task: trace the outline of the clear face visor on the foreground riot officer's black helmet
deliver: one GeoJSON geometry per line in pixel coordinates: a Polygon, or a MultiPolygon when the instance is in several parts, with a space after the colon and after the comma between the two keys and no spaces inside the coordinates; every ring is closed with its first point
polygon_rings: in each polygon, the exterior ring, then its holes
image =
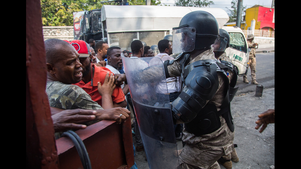
{"type": "Polygon", "coordinates": [[[196,29],[193,27],[173,28],[173,53],[190,52],[194,49],[196,29]]]}

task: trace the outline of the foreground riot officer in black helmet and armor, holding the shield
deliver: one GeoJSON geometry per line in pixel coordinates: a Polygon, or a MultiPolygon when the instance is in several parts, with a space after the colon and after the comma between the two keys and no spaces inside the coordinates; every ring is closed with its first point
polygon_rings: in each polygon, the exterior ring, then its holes
{"type": "Polygon", "coordinates": [[[181,76],[183,82],[171,104],[174,121],[184,123],[182,168],[220,168],[217,160],[234,149],[227,68],[212,47],[219,38],[217,20],[205,11],[186,14],[173,28],[173,52],[183,53],[164,64],[166,78],[181,76]]]}

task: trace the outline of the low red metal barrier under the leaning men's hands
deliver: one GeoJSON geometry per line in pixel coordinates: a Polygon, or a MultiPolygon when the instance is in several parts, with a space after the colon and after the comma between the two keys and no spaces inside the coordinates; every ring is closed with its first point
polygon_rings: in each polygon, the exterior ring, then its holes
{"type": "MultiPolygon", "coordinates": [[[[84,142],[92,168],[121,169],[134,165],[130,120],[122,124],[103,120],[76,133],[84,142]]],[[[57,139],[56,145],[60,168],[83,168],[79,154],[68,137],[57,139]]]]}

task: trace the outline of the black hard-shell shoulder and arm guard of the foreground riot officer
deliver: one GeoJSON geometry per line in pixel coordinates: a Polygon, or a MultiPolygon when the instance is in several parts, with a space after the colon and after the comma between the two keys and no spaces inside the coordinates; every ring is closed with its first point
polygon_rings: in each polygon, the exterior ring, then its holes
{"type": "Polygon", "coordinates": [[[219,85],[217,68],[214,60],[199,60],[185,67],[186,86],[171,104],[174,120],[190,122],[213,98],[219,85]]]}

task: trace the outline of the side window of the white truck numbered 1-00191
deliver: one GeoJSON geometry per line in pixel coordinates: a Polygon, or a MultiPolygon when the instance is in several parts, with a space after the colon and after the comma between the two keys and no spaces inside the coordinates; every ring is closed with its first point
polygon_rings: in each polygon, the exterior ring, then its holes
{"type": "Polygon", "coordinates": [[[248,47],[244,40],[244,36],[241,33],[229,33],[230,34],[230,48],[247,53],[248,47]]]}

